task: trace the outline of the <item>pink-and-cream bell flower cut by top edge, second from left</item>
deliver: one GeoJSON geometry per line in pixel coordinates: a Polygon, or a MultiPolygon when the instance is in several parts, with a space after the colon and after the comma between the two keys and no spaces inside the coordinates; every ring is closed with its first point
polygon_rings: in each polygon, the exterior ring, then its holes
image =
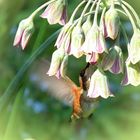
{"type": "Polygon", "coordinates": [[[67,22],[66,0],[56,0],[48,5],[41,14],[42,18],[47,18],[49,24],[59,23],[61,25],[67,22]]]}

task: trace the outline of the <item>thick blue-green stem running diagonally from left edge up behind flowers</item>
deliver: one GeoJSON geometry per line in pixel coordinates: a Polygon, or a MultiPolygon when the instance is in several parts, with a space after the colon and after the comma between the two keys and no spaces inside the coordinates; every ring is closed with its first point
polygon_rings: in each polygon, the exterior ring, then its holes
{"type": "Polygon", "coordinates": [[[44,52],[47,47],[51,45],[51,43],[57,38],[59,32],[60,30],[56,31],[53,35],[51,35],[36,51],[33,52],[29,59],[23,64],[17,75],[9,84],[4,94],[0,97],[0,113],[6,107],[10,99],[16,96],[16,91],[21,86],[24,74],[28,70],[30,65],[39,57],[39,55],[44,52]]]}

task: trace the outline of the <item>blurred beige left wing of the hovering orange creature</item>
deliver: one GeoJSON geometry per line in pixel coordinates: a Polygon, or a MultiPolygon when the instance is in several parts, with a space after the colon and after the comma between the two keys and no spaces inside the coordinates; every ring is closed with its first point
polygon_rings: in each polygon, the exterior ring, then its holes
{"type": "Polygon", "coordinates": [[[35,62],[30,71],[30,81],[50,96],[72,106],[74,97],[68,83],[63,79],[57,79],[55,76],[48,76],[46,73],[49,66],[50,63],[47,60],[35,62]]]}

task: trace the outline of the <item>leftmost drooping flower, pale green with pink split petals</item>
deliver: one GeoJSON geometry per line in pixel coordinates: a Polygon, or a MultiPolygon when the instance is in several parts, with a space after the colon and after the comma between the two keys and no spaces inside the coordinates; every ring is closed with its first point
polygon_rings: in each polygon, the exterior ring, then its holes
{"type": "Polygon", "coordinates": [[[34,31],[33,19],[28,17],[19,23],[18,30],[14,39],[14,46],[21,45],[24,50],[34,31]]]}

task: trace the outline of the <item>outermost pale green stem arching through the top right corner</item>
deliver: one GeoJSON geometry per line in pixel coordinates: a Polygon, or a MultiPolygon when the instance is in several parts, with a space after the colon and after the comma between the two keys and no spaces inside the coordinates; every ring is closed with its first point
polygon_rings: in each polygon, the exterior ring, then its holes
{"type": "Polygon", "coordinates": [[[138,26],[140,26],[140,18],[138,16],[138,14],[136,13],[136,11],[134,10],[134,8],[130,4],[128,4],[127,2],[125,2],[123,0],[122,0],[122,3],[131,10],[131,12],[133,13],[133,15],[135,16],[135,18],[137,20],[138,26]]]}

